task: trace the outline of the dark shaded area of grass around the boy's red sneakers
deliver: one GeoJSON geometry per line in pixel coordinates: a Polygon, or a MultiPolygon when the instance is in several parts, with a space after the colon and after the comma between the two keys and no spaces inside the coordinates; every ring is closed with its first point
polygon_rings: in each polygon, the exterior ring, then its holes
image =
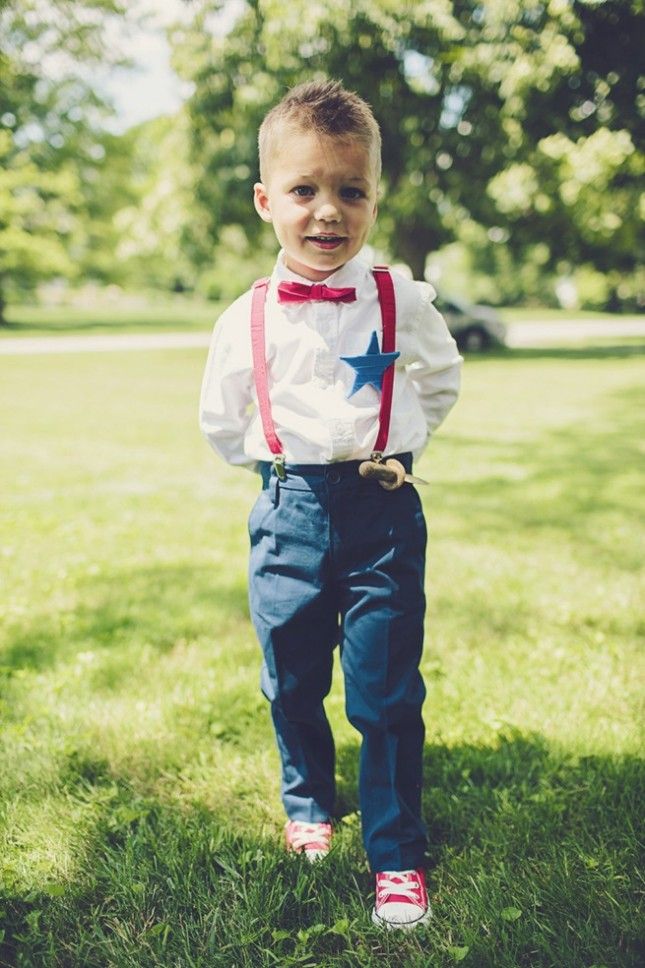
{"type": "MultiPolygon", "coordinates": [[[[339,749],[350,809],[356,763],[354,744],[339,749]]],[[[435,917],[394,941],[370,924],[355,824],[338,825],[334,854],[312,869],[198,801],[136,795],[100,763],[70,762],[65,788],[98,805],[78,875],[5,884],[2,965],[427,968],[453,964],[455,945],[477,968],[642,963],[635,758],[574,759],[539,735],[428,746],[435,917]]]]}

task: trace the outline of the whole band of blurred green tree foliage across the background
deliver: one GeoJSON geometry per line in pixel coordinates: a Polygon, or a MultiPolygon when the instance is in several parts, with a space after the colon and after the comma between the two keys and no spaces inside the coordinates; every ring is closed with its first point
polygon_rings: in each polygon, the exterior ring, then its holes
{"type": "Polygon", "coordinates": [[[582,273],[599,305],[635,305],[644,6],[193,0],[170,32],[192,96],[116,136],[91,70],[118,62],[107,39],[135,16],[126,0],[0,0],[0,313],[3,291],[51,276],[229,297],[264,273],[257,129],[315,77],[379,119],[372,240],[388,258],[420,277],[454,244],[487,298],[582,273]]]}

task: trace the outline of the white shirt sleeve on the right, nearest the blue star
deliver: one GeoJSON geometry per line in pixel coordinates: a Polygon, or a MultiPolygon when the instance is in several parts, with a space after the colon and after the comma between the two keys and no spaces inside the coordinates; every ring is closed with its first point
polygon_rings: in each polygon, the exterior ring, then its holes
{"type": "Polygon", "coordinates": [[[463,360],[443,316],[432,304],[434,289],[427,283],[417,285],[421,300],[413,323],[416,359],[406,371],[421,404],[429,437],[457,400],[463,360]]]}

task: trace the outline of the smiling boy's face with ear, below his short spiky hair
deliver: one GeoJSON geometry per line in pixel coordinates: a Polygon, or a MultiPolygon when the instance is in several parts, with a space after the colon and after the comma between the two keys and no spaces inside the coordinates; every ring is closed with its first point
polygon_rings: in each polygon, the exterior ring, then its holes
{"type": "Polygon", "coordinates": [[[273,224],[287,267],[319,282],[365,244],[377,211],[375,159],[356,139],[286,126],[281,133],[255,207],[273,224]]]}

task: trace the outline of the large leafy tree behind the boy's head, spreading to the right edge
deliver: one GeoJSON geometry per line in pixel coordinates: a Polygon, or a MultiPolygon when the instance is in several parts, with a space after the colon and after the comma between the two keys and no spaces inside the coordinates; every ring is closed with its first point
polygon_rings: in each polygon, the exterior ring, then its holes
{"type": "Polygon", "coordinates": [[[641,2],[247,0],[228,26],[218,3],[194,7],[175,42],[195,85],[192,157],[207,212],[198,258],[226,225],[260,237],[248,201],[257,127],[287,87],[334,76],[381,123],[375,238],[415,275],[468,225],[511,262],[539,245],[545,270],[566,260],[633,269],[641,2]]]}

